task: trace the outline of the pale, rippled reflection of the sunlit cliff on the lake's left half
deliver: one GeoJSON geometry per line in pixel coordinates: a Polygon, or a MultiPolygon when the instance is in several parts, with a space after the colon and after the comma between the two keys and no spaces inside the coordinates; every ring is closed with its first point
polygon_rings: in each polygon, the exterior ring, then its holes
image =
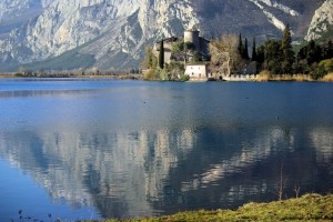
{"type": "Polygon", "coordinates": [[[104,216],[119,218],[152,213],[148,198],[161,195],[168,171],[194,140],[186,130],[174,137],[164,131],[0,135],[1,155],[29,171],[54,199],[80,205],[95,201],[104,216]],[[170,149],[170,141],[176,147],[170,149]]]}

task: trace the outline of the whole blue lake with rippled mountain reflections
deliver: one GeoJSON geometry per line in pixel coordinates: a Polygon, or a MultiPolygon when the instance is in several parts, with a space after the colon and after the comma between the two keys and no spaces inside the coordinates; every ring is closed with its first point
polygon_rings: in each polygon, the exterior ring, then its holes
{"type": "Polygon", "coordinates": [[[128,219],[333,191],[333,84],[0,80],[0,219],[128,219]],[[295,192],[300,190],[299,192],[295,192]]]}

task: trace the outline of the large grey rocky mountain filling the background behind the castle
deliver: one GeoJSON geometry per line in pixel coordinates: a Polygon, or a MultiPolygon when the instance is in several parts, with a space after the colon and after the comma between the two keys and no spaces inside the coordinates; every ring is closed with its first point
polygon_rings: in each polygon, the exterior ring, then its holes
{"type": "MultiPolygon", "coordinates": [[[[9,6],[6,2],[4,6],[9,6]]],[[[324,0],[30,2],[37,2],[34,9],[42,10],[0,40],[0,70],[17,70],[22,63],[29,63],[33,69],[137,67],[148,44],[161,38],[181,36],[183,30],[193,27],[208,39],[242,32],[262,41],[280,38],[284,26],[290,23],[294,38],[302,39],[314,11],[324,0]]]]}

